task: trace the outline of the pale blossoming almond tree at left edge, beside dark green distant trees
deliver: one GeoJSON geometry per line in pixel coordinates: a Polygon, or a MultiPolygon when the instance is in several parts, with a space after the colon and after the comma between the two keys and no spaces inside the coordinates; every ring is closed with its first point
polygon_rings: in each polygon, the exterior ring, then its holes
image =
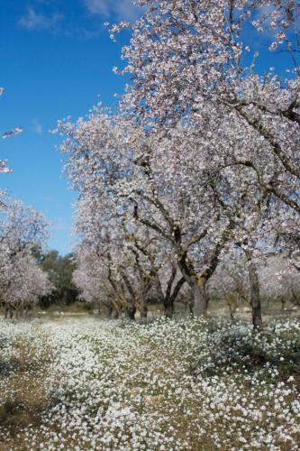
{"type": "Polygon", "coordinates": [[[50,290],[46,273],[32,256],[48,236],[47,223],[32,207],[6,196],[0,212],[0,299],[6,316],[16,316],[50,290]]]}

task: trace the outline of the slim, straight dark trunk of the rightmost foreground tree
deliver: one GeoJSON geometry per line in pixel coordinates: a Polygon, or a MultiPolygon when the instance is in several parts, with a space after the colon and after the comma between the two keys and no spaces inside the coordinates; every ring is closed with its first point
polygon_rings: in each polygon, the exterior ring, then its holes
{"type": "Polygon", "coordinates": [[[250,281],[250,304],[252,309],[252,324],[255,329],[262,327],[261,305],[259,293],[259,275],[255,263],[252,261],[252,255],[249,250],[244,249],[248,259],[248,273],[250,281]]]}

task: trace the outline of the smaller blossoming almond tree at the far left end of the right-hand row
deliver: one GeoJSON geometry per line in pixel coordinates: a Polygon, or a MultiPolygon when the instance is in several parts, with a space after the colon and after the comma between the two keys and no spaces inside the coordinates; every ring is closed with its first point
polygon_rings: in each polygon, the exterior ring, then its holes
{"type": "Polygon", "coordinates": [[[102,206],[101,198],[81,198],[77,202],[75,231],[81,240],[76,248],[75,282],[83,297],[86,293],[87,300],[96,299],[114,317],[124,312],[134,318],[137,307],[132,288],[134,269],[124,246],[123,227],[114,209],[108,217],[102,206]]]}

